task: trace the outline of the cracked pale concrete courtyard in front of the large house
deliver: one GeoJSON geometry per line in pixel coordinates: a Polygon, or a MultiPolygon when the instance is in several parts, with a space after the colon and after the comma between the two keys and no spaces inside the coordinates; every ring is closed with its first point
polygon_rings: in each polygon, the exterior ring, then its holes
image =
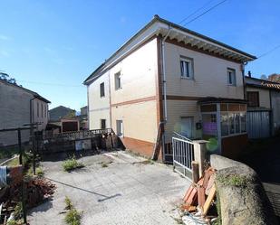
{"type": "Polygon", "coordinates": [[[29,212],[30,224],[65,224],[65,196],[82,211],[82,224],[178,224],[177,206],[190,183],[171,166],[122,151],[79,161],[85,167],[72,173],[63,172],[63,161],[43,162],[57,189],[29,212]]]}

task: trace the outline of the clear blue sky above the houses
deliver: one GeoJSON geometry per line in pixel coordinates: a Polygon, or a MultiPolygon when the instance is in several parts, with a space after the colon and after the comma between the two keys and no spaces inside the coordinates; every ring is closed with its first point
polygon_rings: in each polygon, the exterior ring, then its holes
{"type": "MultiPolygon", "coordinates": [[[[87,102],[82,81],[154,14],[179,23],[208,2],[1,0],[0,70],[50,99],[51,108],[79,110],[87,102]]],[[[227,0],[187,27],[259,56],[280,44],[279,12],[278,0],[227,0]]],[[[246,70],[279,73],[279,61],[280,48],[246,70]]]]}

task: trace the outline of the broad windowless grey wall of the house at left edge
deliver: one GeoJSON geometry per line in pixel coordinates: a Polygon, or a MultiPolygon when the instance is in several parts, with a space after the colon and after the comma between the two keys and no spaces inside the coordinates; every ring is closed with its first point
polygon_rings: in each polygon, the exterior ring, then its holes
{"type": "MultiPolygon", "coordinates": [[[[33,95],[23,89],[0,82],[0,129],[23,127],[30,123],[30,99],[33,95]]],[[[29,140],[29,131],[24,130],[22,141],[29,140]]],[[[0,145],[17,144],[17,133],[0,132],[0,145]]]]}

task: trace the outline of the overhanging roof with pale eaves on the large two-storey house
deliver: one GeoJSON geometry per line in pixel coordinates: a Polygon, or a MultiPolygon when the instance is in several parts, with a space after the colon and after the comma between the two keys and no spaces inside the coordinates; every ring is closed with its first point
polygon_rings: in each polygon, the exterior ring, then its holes
{"type": "MultiPolygon", "coordinates": [[[[159,34],[161,34],[163,36],[169,35],[170,34],[169,31],[171,31],[171,29],[172,29],[172,32],[179,33],[179,35],[183,36],[183,38],[180,42],[182,42],[184,40],[184,38],[188,38],[188,40],[191,39],[191,40],[197,42],[196,44],[205,42],[205,44],[209,47],[208,50],[205,49],[206,52],[213,52],[213,51],[214,52],[215,51],[223,52],[223,51],[225,51],[224,52],[225,57],[226,57],[226,55],[227,55],[227,57],[229,57],[230,53],[228,53],[228,52],[231,52],[234,54],[235,57],[237,57],[237,61],[240,61],[240,62],[256,60],[256,56],[254,56],[254,55],[248,54],[246,52],[242,52],[234,47],[227,45],[226,43],[218,42],[217,40],[209,38],[208,36],[205,36],[200,33],[196,33],[183,26],[180,26],[179,24],[172,23],[172,22],[169,22],[168,20],[162,19],[159,17],[159,15],[155,15],[154,18],[150,21],[150,23],[147,23],[143,28],[141,28],[138,33],[134,34],[130,38],[129,41],[125,42],[121,46],[121,48],[119,48],[116,52],[114,52],[108,60],[103,62],[96,70],[94,70],[92,72],[92,74],[86,80],[83,81],[83,84],[85,84],[85,85],[89,84],[90,81],[94,80],[95,77],[102,74],[105,71],[106,67],[109,67],[109,65],[111,64],[112,61],[114,61],[114,59],[118,59],[119,57],[121,57],[119,55],[121,52],[124,52],[124,53],[130,52],[132,47],[140,42],[140,40],[138,40],[138,38],[140,38],[140,35],[147,32],[149,29],[150,29],[150,33],[149,33],[150,36],[159,35],[159,34]],[[156,27],[153,27],[153,25],[155,25],[156,23],[159,25],[156,27]],[[124,50],[129,47],[130,47],[130,49],[127,52],[125,52],[124,50]]],[[[176,35],[174,35],[174,36],[176,36],[176,35]]],[[[196,44],[194,44],[194,45],[196,45],[196,44]]],[[[203,49],[204,49],[204,47],[203,47],[203,49]]],[[[222,52],[218,52],[218,54],[219,53],[222,54],[222,52]]]]}

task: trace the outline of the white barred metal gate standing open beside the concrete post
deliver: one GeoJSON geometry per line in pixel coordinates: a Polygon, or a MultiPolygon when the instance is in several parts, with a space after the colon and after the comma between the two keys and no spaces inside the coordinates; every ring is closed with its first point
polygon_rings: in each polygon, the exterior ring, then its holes
{"type": "Polygon", "coordinates": [[[191,162],[194,161],[194,144],[188,138],[172,137],[174,171],[190,178],[191,162]]]}

